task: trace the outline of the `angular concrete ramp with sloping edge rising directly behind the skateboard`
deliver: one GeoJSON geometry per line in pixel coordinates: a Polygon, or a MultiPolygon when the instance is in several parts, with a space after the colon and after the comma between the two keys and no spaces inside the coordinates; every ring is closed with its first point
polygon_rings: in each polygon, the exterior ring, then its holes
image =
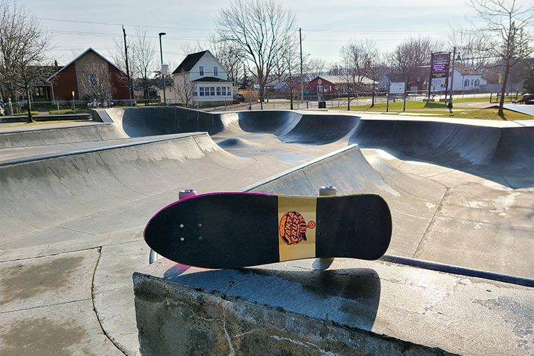
{"type": "Polygon", "coordinates": [[[376,193],[390,205],[393,220],[388,253],[412,256],[447,189],[423,177],[406,175],[380,158],[369,161],[356,145],[283,175],[244,188],[244,191],[288,195],[318,195],[335,185],[338,194],[376,193]]]}

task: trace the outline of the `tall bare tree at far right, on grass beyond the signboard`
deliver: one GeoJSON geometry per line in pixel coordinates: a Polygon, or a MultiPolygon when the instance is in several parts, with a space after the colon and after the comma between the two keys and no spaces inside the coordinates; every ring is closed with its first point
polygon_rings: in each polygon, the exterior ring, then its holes
{"type": "Polygon", "coordinates": [[[510,68],[534,53],[534,6],[524,8],[515,0],[468,0],[478,22],[471,21],[470,34],[483,37],[482,52],[501,59],[503,89],[498,115],[504,116],[504,97],[510,68]]]}

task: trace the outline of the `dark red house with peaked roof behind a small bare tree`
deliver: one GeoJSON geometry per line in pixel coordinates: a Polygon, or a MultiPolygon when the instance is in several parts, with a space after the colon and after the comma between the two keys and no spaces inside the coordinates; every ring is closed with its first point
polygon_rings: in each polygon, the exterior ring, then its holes
{"type": "Polygon", "coordinates": [[[73,100],[74,91],[75,100],[88,100],[89,98],[86,98],[86,93],[81,82],[82,80],[88,80],[88,77],[94,75],[86,69],[87,64],[91,63],[107,65],[107,69],[110,71],[111,83],[115,89],[112,99],[121,100],[130,98],[128,95],[128,82],[125,80],[126,73],[92,48],[80,54],[71,63],[48,78],[48,82],[50,83],[50,87],[48,87],[50,91],[49,97],[55,100],[73,100]]]}

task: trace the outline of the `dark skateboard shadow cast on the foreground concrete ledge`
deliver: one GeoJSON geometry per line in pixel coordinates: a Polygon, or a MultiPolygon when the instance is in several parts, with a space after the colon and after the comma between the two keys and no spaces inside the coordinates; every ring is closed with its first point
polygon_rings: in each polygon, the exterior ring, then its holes
{"type": "Polygon", "coordinates": [[[222,294],[225,299],[269,305],[367,331],[373,327],[380,304],[380,276],[369,268],[313,271],[277,263],[198,269],[177,264],[163,276],[172,283],[222,294]]]}

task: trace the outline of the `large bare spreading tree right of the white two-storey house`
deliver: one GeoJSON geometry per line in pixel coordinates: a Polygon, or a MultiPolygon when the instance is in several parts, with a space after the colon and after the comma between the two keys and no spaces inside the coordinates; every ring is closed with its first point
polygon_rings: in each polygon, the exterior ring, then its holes
{"type": "Polygon", "coordinates": [[[215,19],[216,32],[224,42],[234,43],[245,66],[258,83],[263,109],[265,88],[271,71],[296,36],[295,13],[273,0],[234,0],[215,19]]]}

